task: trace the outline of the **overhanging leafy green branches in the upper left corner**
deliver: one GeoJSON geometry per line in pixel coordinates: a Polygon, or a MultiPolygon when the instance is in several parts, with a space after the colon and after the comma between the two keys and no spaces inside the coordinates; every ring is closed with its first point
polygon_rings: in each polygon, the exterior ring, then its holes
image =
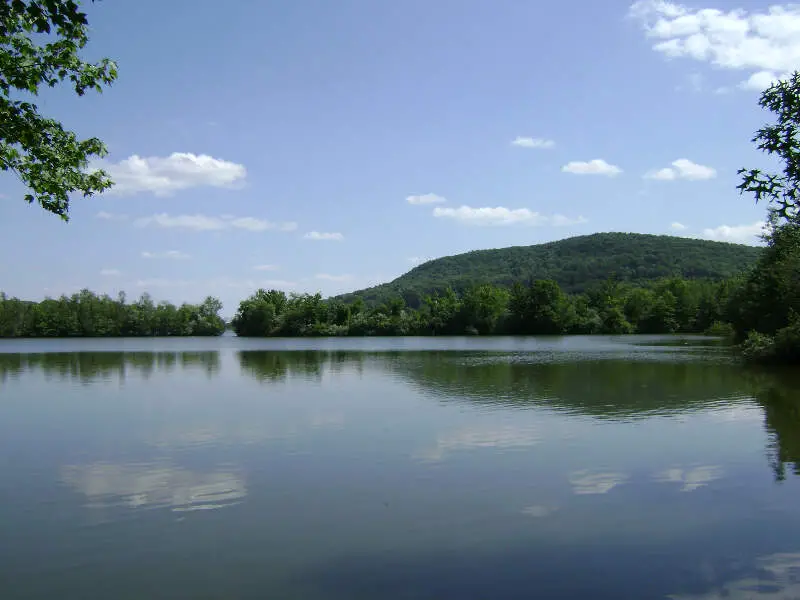
{"type": "Polygon", "coordinates": [[[30,97],[61,83],[82,96],[116,79],[113,61],[92,64],[79,57],[88,31],[74,0],[0,0],[0,169],[25,184],[28,203],[64,220],[70,194],[87,197],[112,185],[105,172],[88,170],[89,160],[105,156],[106,148],[41,115],[30,97]]]}

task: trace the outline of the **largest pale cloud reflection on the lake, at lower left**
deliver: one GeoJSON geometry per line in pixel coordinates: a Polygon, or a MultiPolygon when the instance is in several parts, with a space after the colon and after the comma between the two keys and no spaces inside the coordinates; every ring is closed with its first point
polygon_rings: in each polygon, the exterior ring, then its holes
{"type": "Polygon", "coordinates": [[[237,504],[247,494],[235,471],[197,472],[168,463],[68,465],[61,478],[86,496],[90,508],[211,510],[237,504]]]}

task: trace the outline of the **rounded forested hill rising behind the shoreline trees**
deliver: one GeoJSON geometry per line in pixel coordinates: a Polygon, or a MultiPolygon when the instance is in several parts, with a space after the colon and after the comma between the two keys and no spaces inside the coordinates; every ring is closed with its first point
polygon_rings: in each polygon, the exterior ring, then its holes
{"type": "Polygon", "coordinates": [[[565,292],[580,293],[611,275],[645,283],[679,275],[688,279],[723,279],[750,268],[761,248],[668,235],[596,233],[534,246],[475,250],[445,256],[415,267],[389,283],[339,299],[362,298],[367,304],[401,296],[417,306],[423,294],[473,283],[511,285],[529,279],[553,279],[565,292]]]}

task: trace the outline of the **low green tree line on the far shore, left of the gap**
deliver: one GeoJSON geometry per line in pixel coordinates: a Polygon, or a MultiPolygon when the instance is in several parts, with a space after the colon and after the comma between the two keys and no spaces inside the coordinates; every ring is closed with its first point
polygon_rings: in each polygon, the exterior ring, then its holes
{"type": "Polygon", "coordinates": [[[83,290],[70,297],[25,302],[0,292],[0,338],[221,335],[222,304],[208,297],[202,304],[154,304],[143,294],[133,303],[83,290]]]}

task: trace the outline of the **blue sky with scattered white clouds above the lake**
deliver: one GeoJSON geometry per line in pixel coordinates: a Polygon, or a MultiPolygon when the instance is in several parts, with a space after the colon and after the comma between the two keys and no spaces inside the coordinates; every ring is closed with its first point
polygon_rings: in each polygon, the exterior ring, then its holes
{"type": "Polygon", "coordinates": [[[332,295],[604,231],[755,244],[736,171],[800,7],[755,0],[84,2],[119,79],[40,110],[106,142],[68,223],[0,173],[0,289],[332,295]]]}

